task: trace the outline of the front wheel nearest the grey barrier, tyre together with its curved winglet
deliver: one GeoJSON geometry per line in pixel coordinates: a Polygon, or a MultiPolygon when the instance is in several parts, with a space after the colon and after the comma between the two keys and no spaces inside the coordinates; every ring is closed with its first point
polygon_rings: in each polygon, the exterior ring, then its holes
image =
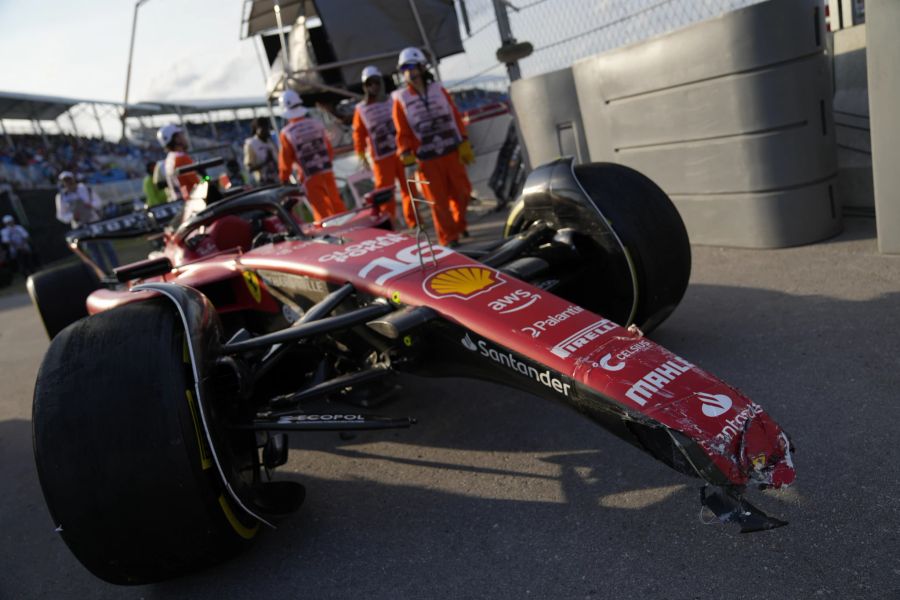
{"type": "Polygon", "coordinates": [[[675,205],[650,179],[624,165],[573,165],[560,159],[529,176],[504,235],[535,222],[591,238],[587,272],[559,295],[612,319],[659,326],[681,301],[691,275],[691,246],[675,205]]]}

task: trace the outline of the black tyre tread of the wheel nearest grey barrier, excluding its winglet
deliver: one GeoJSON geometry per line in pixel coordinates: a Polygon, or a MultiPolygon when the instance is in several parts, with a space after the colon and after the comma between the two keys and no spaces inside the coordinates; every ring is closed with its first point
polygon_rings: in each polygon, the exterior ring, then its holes
{"type": "MultiPolygon", "coordinates": [[[[691,246],[681,215],[659,186],[624,165],[578,165],[574,173],[634,266],[637,309],[630,322],[622,324],[634,323],[649,333],[675,310],[690,280],[691,246]]],[[[530,225],[520,199],[510,210],[504,234],[515,235],[530,225]]],[[[603,273],[597,275],[603,279],[603,273]]]]}

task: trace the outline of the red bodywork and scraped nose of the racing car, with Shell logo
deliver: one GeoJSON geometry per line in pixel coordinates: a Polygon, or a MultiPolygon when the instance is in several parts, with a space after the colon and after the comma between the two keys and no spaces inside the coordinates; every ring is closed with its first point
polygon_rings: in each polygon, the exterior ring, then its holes
{"type": "MultiPolygon", "coordinates": [[[[695,442],[728,483],[781,487],[794,479],[791,449],[781,428],[743,394],[639,333],[575,306],[452,250],[423,251],[414,237],[358,228],[327,237],[286,241],[249,252],[228,252],[177,267],[155,279],[203,289],[229,281],[235,302],[221,312],[274,312],[257,270],[351,283],[397,306],[427,305],[468,334],[462,347],[481,359],[543,383],[567,399],[590,390],[611,401],[624,419],[654,423],[695,442]],[[247,278],[257,283],[249,282],[247,278]],[[259,285],[259,297],[251,288],[259,285]],[[487,341],[490,343],[488,343],[487,341]],[[541,373],[504,350],[544,365],[541,373]]],[[[137,283],[137,282],[132,282],[137,283]]],[[[91,313],[138,301],[147,293],[101,290],[91,313]]]]}

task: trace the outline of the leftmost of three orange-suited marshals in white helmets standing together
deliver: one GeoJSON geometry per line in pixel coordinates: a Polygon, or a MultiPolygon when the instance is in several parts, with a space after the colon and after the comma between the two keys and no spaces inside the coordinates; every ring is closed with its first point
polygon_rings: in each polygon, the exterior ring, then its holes
{"type": "Polygon", "coordinates": [[[307,109],[294,90],[281,94],[281,107],[288,124],[279,134],[278,178],[287,183],[294,167],[299,167],[300,184],[317,221],[344,212],[347,208],[331,170],[334,149],[325,135],[325,126],[307,118],[307,109]]]}

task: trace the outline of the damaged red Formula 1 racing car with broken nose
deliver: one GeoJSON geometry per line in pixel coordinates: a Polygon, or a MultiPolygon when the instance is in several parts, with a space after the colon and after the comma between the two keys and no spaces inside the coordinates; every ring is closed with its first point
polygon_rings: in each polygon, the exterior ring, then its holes
{"type": "Polygon", "coordinates": [[[743,492],[793,481],[788,436],[641,333],[690,272],[684,225],[651,181],[544,165],[506,235],[462,251],[389,224],[362,210],[302,227],[278,189],[248,192],[182,219],[163,256],[88,296],[91,316],[53,339],[34,400],[44,496],[88,569],[141,583],[233,554],[303,500],[299,484],[260,476],[286,462],[288,432],[414,422],[372,414],[397,371],[560,401],[703,479],[723,522],[784,524],[743,492]],[[203,235],[215,251],[196,255],[203,235]]]}

